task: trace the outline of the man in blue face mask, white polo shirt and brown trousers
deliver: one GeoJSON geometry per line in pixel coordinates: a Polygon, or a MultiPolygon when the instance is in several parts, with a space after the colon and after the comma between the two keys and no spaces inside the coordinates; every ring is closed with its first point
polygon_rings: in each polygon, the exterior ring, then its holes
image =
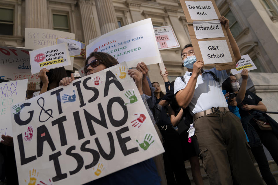
{"type": "MultiPolygon", "coordinates": [[[[241,55],[229,29],[229,20],[224,16],[219,20],[225,26],[238,62],[241,55]]],[[[175,80],[174,94],[179,106],[188,107],[193,116],[200,156],[210,184],[263,184],[250,157],[240,119],[229,112],[221,90],[230,70],[203,70],[203,62],[196,60],[191,44],[182,49],[182,60],[188,71],[175,80]]]]}

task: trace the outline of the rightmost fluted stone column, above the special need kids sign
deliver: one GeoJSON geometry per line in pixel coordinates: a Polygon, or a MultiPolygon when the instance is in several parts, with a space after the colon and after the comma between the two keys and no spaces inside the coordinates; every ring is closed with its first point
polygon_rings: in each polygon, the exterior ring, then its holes
{"type": "Polygon", "coordinates": [[[95,0],[100,33],[106,34],[118,28],[116,13],[112,0],[95,0]]]}

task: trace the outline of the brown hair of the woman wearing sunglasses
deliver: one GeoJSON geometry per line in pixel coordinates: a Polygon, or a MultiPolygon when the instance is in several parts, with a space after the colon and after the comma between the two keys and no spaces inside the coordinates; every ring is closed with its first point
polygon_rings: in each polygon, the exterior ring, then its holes
{"type": "MultiPolygon", "coordinates": [[[[92,52],[87,57],[87,59],[85,61],[85,66],[86,66],[86,64],[88,64],[88,60],[93,56],[96,57],[96,59],[101,60],[107,68],[119,64],[119,62],[116,60],[116,58],[112,57],[111,55],[104,53],[104,52],[95,51],[95,52],[92,52]]],[[[84,67],[84,69],[86,69],[86,68],[84,67]]],[[[87,70],[85,70],[85,73],[87,73],[87,70]]]]}

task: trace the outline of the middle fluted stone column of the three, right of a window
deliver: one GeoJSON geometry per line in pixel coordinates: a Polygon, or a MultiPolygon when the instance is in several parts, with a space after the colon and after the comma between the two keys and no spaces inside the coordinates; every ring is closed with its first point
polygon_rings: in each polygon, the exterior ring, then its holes
{"type": "Polygon", "coordinates": [[[98,36],[96,21],[94,20],[96,17],[93,16],[93,1],[79,0],[78,4],[80,7],[84,40],[85,43],[89,44],[89,40],[98,36]]]}

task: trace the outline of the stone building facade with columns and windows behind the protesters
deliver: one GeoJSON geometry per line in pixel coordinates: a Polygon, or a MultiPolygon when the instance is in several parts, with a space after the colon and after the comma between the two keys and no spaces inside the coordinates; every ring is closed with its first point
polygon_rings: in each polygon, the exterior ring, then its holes
{"type": "MultiPolygon", "coordinates": [[[[249,54],[258,68],[250,75],[249,87],[260,93],[270,111],[277,111],[277,0],[215,2],[221,15],[230,20],[241,54],[249,54]],[[262,76],[268,80],[261,80],[262,76]]],[[[24,47],[25,27],[72,32],[76,40],[88,44],[95,37],[145,18],[151,18],[154,27],[171,25],[181,47],[190,43],[179,0],[1,0],[0,45],[24,47]]],[[[161,55],[170,81],[185,73],[180,48],[162,50],[161,55]]],[[[74,69],[82,66],[83,58],[75,57],[74,69]]],[[[151,81],[164,84],[158,64],[149,68],[151,81]]]]}

